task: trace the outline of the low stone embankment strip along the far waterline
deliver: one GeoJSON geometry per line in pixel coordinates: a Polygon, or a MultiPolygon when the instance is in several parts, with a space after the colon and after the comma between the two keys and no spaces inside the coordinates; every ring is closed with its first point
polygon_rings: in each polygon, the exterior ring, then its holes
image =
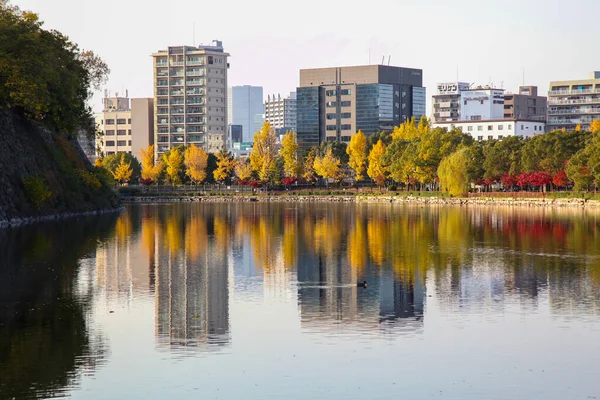
{"type": "Polygon", "coordinates": [[[298,195],[232,195],[232,196],[124,196],[123,203],[388,203],[419,205],[490,205],[515,207],[577,207],[600,208],[600,200],[584,198],[529,198],[529,197],[421,197],[421,196],[298,196],[298,195]]]}

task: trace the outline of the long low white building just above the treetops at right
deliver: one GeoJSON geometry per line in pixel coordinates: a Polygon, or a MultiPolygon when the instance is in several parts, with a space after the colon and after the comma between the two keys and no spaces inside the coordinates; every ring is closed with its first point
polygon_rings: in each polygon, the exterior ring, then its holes
{"type": "Polygon", "coordinates": [[[502,140],[508,136],[522,136],[524,138],[541,135],[546,131],[546,123],[535,120],[519,119],[489,119],[473,121],[448,121],[436,122],[436,127],[460,129],[468,133],[475,140],[502,140]]]}

